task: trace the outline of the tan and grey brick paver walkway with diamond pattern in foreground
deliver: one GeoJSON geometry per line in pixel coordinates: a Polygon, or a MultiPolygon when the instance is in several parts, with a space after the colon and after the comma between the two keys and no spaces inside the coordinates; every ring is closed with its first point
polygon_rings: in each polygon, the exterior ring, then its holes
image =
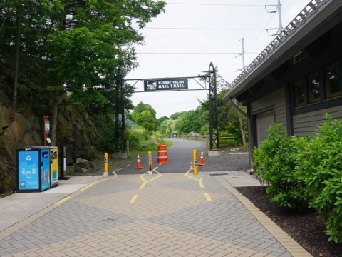
{"type": "Polygon", "coordinates": [[[217,177],[196,178],[102,178],[3,236],[0,256],[291,256],[217,177]]]}

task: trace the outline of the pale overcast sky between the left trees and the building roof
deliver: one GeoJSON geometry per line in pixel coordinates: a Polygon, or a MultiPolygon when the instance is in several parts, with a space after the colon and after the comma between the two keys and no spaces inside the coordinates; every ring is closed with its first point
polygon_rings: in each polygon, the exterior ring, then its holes
{"type": "MultiPolygon", "coordinates": [[[[311,1],[311,0],[310,0],[311,1]]],[[[283,28],[309,0],[281,0],[283,28]]],[[[145,45],[136,46],[139,66],[125,79],[152,79],[198,76],[212,62],[229,83],[274,39],[279,28],[277,0],[166,0],[165,13],[141,30],[145,45]],[[265,7],[266,6],[266,7],[265,7]],[[268,29],[268,31],[267,31],[268,29]],[[212,54],[214,53],[214,54],[212,54]]],[[[134,84],[135,81],[130,81],[134,84]]],[[[135,84],[143,91],[142,82],[135,84]]],[[[200,89],[190,83],[190,89],[200,89]]],[[[197,99],[207,98],[207,90],[167,91],[133,94],[133,104],[150,104],[157,118],[178,111],[194,110],[197,99]]]]}

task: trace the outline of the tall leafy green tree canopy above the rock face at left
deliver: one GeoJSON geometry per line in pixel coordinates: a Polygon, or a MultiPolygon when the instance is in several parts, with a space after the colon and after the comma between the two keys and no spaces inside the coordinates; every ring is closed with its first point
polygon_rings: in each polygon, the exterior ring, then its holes
{"type": "Polygon", "coordinates": [[[35,116],[52,116],[52,133],[62,102],[113,114],[115,70],[134,69],[133,44],[143,42],[134,26],[142,29],[164,6],[152,0],[1,1],[1,88],[14,109],[20,102],[35,116]]]}

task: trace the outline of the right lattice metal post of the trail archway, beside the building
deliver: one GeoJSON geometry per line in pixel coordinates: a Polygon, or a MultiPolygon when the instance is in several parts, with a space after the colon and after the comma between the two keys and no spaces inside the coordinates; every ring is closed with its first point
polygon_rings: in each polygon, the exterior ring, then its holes
{"type": "Polygon", "coordinates": [[[216,69],[209,66],[209,150],[219,150],[219,122],[217,119],[216,69]]]}

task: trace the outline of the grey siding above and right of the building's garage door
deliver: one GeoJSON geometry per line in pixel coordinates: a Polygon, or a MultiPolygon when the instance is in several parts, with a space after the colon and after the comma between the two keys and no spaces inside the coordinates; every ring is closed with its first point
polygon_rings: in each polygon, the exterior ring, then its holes
{"type": "Polygon", "coordinates": [[[261,97],[257,101],[251,103],[252,114],[260,114],[263,110],[274,107],[274,116],[276,123],[283,124],[284,129],[287,129],[286,124],[286,103],[285,89],[279,89],[271,94],[261,97]]]}

